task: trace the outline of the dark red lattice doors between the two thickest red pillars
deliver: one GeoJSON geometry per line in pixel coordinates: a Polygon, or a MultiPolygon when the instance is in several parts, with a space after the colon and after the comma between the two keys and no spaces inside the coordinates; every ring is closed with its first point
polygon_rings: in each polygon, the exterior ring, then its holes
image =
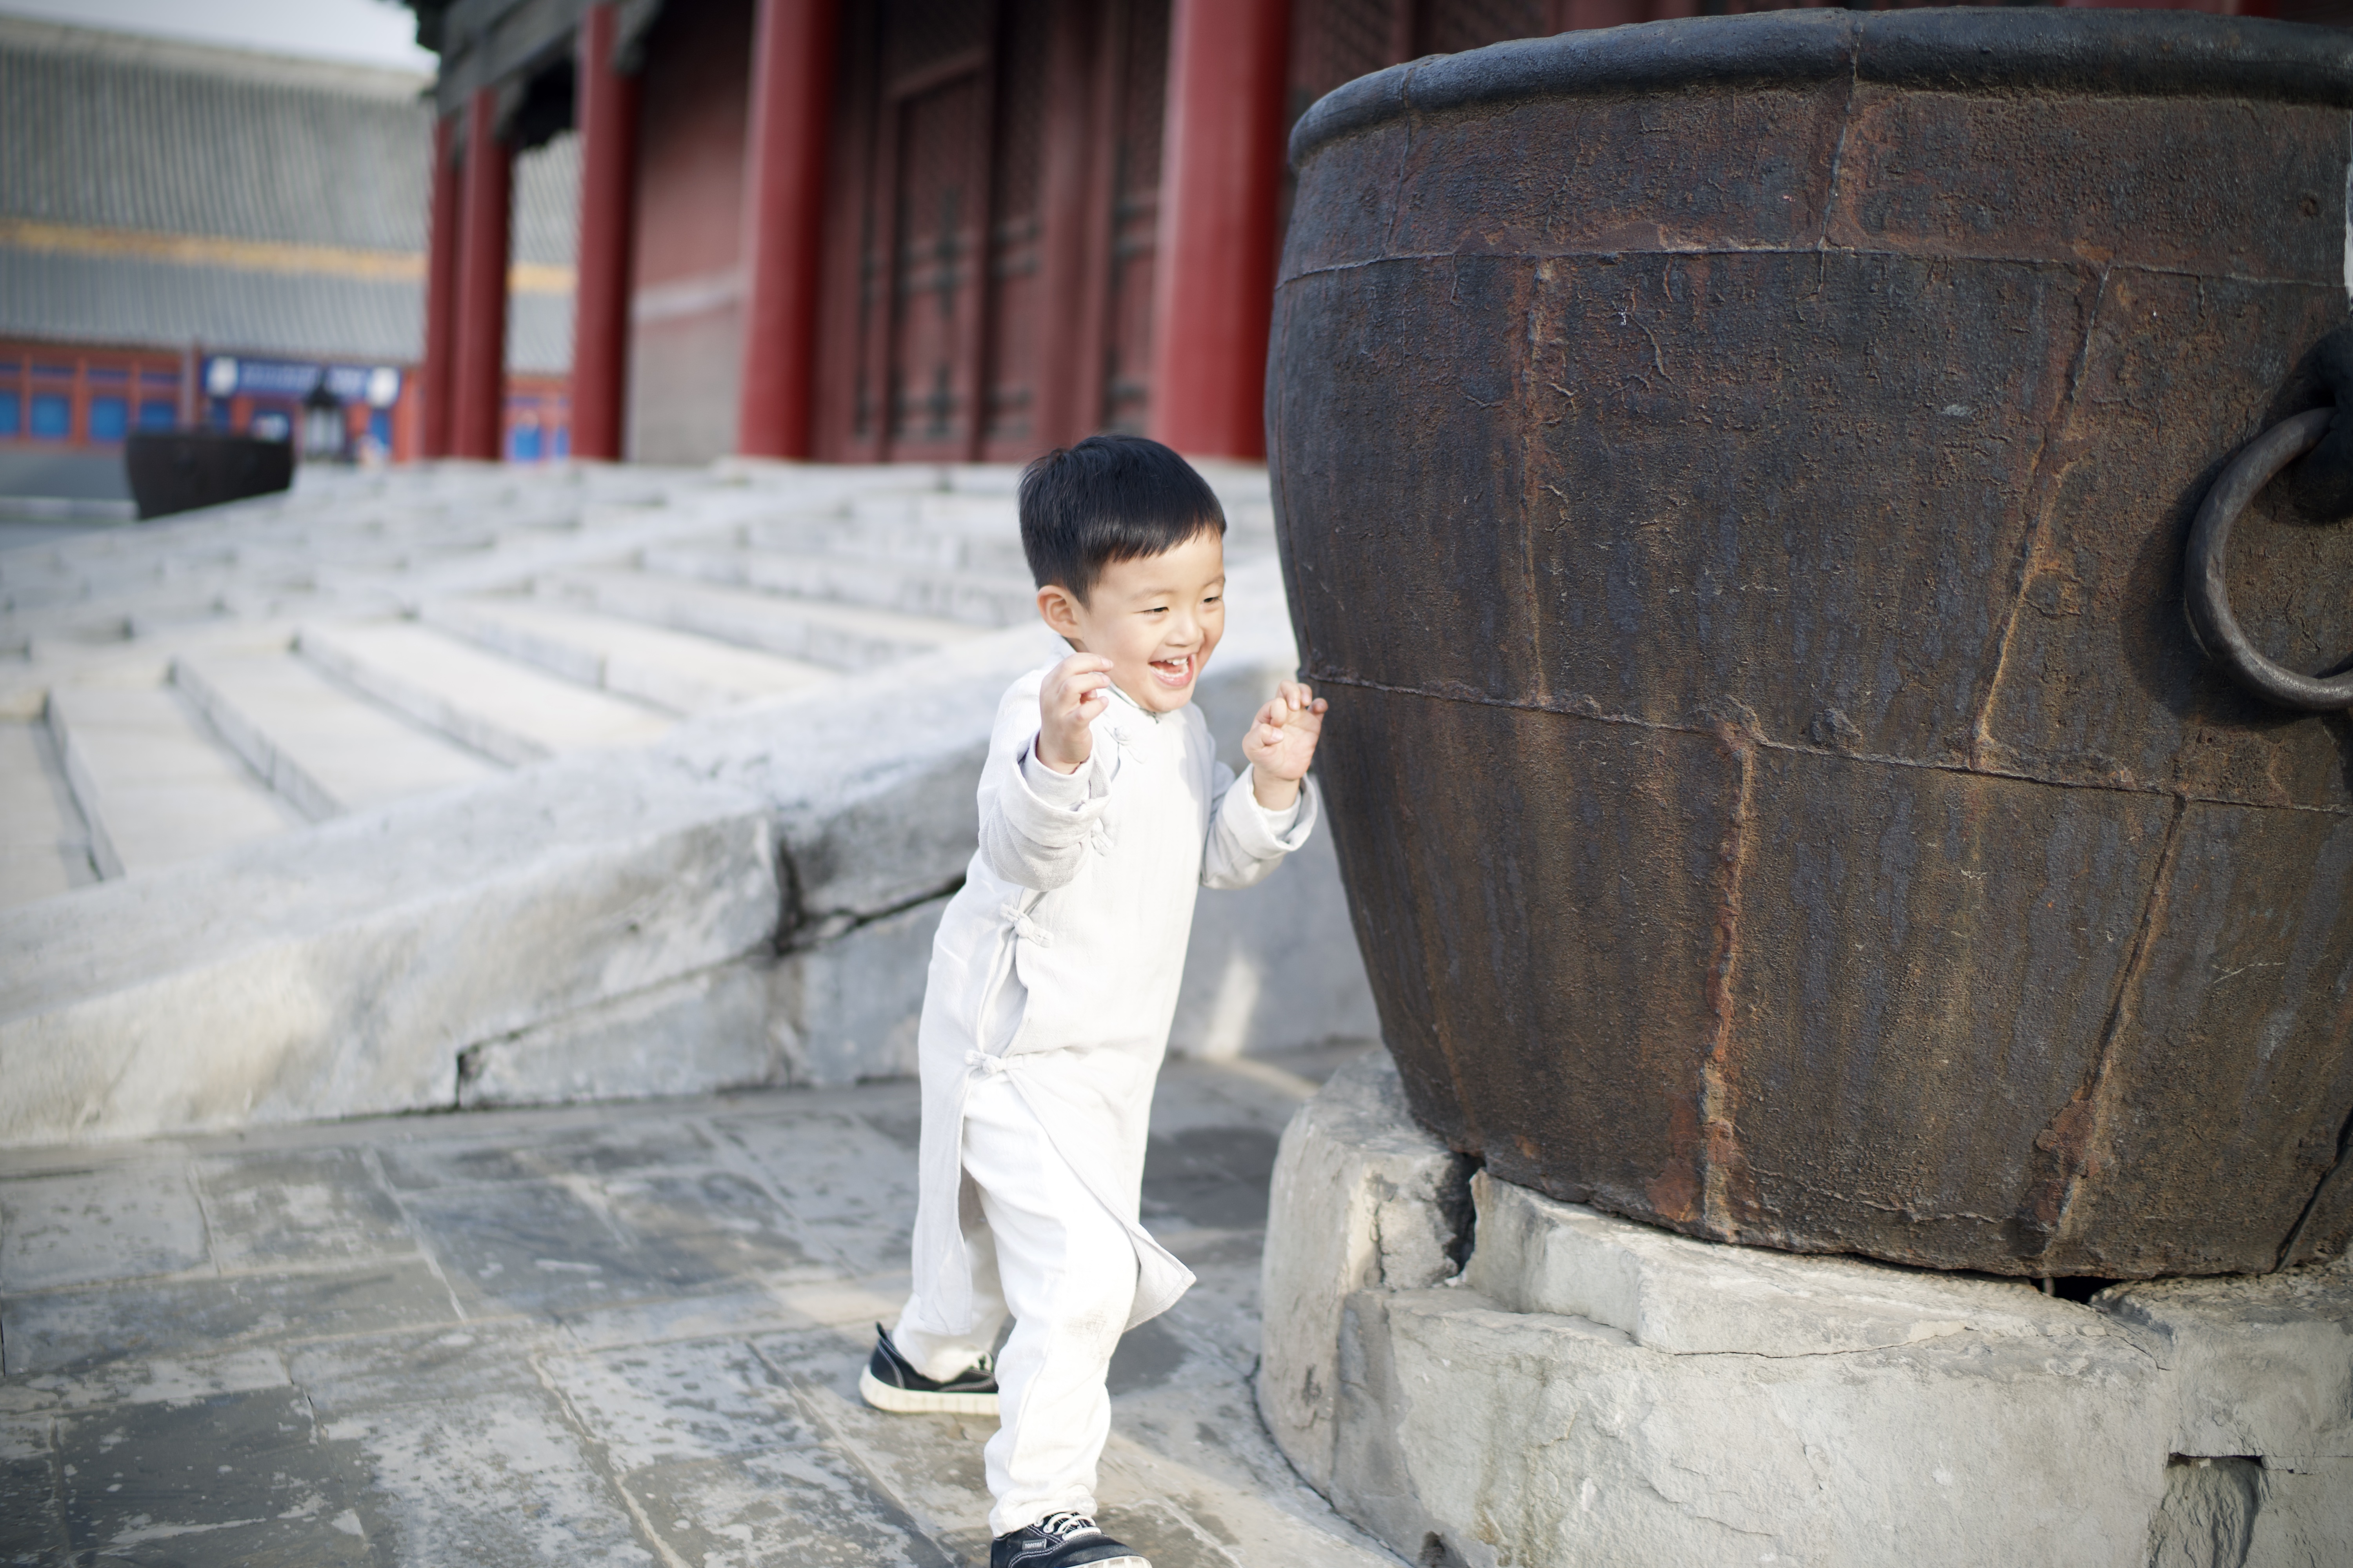
{"type": "Polygon", "coordinates": [[[1169,0],[849,16],[819,454],[1024,461],[1141,428],[1169,0]]]}

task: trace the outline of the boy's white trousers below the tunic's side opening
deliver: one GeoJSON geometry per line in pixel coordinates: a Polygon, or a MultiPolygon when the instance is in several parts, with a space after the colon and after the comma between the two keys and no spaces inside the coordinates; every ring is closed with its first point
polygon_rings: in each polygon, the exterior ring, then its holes
{"type": "Polygon", "coordinates": [[[984,1455],[988,1533],[1009,1535],[1061,1509],[1094,1514],[1094,1469],[1111,1436],[1104,1378],[1134,1307],[1136,1248],[1054,1152],[1009,1074],[967,1091],[965,1173],[981,1194],[981,1213],[965,1218],[979,1321],[962,1338],[896,1328],[892,1342],[918,1373],[946,1380],[988,1354],[1012,1312],[998,1356],[1000,1425],[984,1455]]]}

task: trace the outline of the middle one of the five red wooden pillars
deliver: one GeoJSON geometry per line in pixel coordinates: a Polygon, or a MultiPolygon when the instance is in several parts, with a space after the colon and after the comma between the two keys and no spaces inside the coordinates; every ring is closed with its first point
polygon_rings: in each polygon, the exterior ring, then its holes
{"type": "Polygon", "coordinates": [[[638,183],[638,78],[614,71],[619,21],[600,0],[581,14],[581,237],[572,289],[572,456],[621,458],[628,388],[628,207],[638,183]]]}

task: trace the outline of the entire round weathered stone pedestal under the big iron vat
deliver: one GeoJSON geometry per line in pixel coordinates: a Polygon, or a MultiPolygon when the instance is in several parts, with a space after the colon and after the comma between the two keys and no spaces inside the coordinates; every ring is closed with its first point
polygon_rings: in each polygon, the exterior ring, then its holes
{"type": "Polygon", "coordinates": [[[1282,1138],[1264,1307],[1268,1427],[1412,1563],[2353,1563],[2344,1260],[2075,1305],[1692,1241],[1473,1173],[1372,1058],[1282,1138]]]}

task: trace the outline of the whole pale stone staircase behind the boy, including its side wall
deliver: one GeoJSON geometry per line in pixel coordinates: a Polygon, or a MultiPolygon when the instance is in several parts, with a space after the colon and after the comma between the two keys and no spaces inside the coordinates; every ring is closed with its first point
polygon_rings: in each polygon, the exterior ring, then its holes
{"type": "MultiPolygon", "coordinates": [[[[1238,764],[1297,649],[1266,473],[1207,477],[1238,764]]],[[[329,473],[0,552],[0,1147],[913,1072],[1056,646],[1014,480],[329,473]]],[[[1327,835],[1202,898],[1174,1051],[1374,1027],[1327,835]]]]}

